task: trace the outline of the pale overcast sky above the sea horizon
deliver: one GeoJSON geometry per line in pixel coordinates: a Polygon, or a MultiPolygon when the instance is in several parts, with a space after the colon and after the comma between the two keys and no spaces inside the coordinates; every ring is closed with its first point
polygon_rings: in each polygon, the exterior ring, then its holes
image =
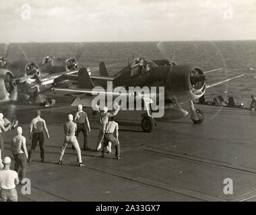
{"type": "Polygon", "coordinates": [[[0,3],[0,42],[256,39],[255,0],[0,0],[0,3]],[[24,3],[31,6],[31,19],[22,19],[24,3]]]}

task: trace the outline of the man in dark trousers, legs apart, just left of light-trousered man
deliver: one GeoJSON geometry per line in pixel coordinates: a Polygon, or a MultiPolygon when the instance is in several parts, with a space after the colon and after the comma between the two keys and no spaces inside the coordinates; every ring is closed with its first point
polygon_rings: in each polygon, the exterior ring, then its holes
{"type": "Polygon", "coordinates": [[[43,130],[46,133],[47,138],[50,138],[48,129],[46,127],[46,122],[41,117],[40,110],[36,111],[36,118],[34,118],[30,123],[30,139],[32,137],[32,146],[28,153],[28,162],[32,161],[32,153],[36,149],[37,142],[39,141],[40,147],[40,157],[42,162],[45,161],[44,158],[44,134],[43,130]]]}

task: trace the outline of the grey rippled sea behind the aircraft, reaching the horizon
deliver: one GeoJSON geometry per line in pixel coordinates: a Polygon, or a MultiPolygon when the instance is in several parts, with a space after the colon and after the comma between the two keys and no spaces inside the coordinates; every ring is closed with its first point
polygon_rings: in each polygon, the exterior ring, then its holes
{"type": "MultiPolygon", "coordinates": [[[[75,57],[82,49],[78,62],[86,67],[98,67],[104,60],[113,74],[128,64],[128,59],[145,56],[148,59],[164,58],[156,47],[158,42],[85,42],[79,43],[24,43],[19,44],[28,59],[40,62],[48,54],[59,57],[75,57]]],[[[249,105],[251,94],[256,95],[256,41],[218,41],[218,42],[164,42],[167,55],[177,64],[192,64],[203,71],[223,67],[220,73],[211,73],[207,79],[212,81],[221,77],[245,73],[241,79],[228,84],[212,87],[205,93],[206,100],[218,95],[233,96],[237,103],[249,105]]],[[[0,54],[3,44],[0,44],[0,54]]],[[[24,58],[17,44],[11,44],[10,61],[24,58]]],[[[97,72],[96,72],[97,73],[97,72]]]]}

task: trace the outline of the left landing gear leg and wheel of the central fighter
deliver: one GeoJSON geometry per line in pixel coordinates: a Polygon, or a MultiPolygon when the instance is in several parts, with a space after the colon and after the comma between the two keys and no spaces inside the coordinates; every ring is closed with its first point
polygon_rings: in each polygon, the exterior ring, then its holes
{"type": "Polygon", "coordinates": [[[150,110],[150,103],[152,103],[152,99],[143,98],[143,101],[147,112],[141,115],[141,128],[144,132],[152,132],[156,127],[156,121],[152,117],[152,112],[150,110]]]}

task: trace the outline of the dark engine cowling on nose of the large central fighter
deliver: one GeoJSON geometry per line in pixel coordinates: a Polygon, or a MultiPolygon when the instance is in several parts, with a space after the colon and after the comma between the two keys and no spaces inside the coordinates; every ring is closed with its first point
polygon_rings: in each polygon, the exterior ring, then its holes
{"type": "Polygon", "coordinates": [[[166,78],[168,99],[184,102],[195,100],[205,93],[205,75],[199,68],[175,65],[166,78]]]}

